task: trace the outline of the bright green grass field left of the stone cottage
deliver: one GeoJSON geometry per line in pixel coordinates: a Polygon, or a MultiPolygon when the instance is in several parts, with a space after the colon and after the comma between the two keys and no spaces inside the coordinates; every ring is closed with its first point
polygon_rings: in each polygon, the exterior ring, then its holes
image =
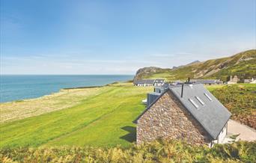
{"type": "Polygon", "coordinates": [[[135,129],[132,120],[144,110],[141,100],[152,88],[127,84],[102,89],[71,108],[1,124],[1,147],[128,145],[135,140],[129,135],[135,129]]]}

